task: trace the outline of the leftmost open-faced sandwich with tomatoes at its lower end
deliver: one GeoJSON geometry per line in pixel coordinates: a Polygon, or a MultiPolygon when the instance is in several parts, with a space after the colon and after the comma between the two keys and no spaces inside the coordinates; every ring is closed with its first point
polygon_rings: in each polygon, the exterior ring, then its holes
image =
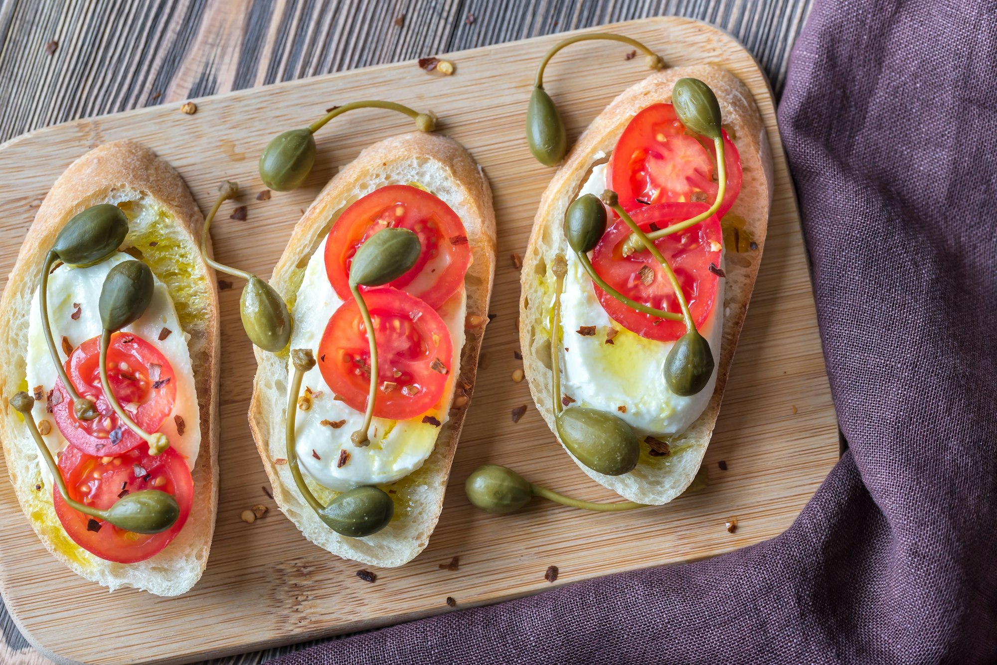
{"type": "Polygon", "coordinates": [[[179,175],[131,141],[73,162],[0,302],[0,440],[45,547],[112,589],[200,577],[217,504],[217,296],[179,175]]]}

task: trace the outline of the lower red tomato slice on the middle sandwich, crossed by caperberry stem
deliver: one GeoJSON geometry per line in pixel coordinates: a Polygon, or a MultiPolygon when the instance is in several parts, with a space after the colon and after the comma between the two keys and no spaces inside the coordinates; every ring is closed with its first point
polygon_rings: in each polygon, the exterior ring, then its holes
{"type": "MultiPolygon", "coordinates": [[[[374,323],[379,389],[374,415],[405,420],[436,406],[454,363],[450,331],[436,310],[404,291],[371,289],[364,302],[374,323]]],[[[370,349],[356,300],[344,303],[326,326],[318,366],[330,389],[352,408],[367,408],[370,349]]]]}

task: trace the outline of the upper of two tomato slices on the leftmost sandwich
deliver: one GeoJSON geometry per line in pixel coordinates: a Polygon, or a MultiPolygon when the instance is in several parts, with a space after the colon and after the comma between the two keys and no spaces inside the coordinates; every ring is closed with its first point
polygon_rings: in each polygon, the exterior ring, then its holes
{"type": "MultiPolygon", "coordinates": [[[[59,431],[88,455],[120,455],[144,440],[119,423],[101,387],[101,338],[87,339],[66,361],[66,373],[84,397],[97,403],[100,416],[78,420],[62,381],[52,393],[52,412],[59,431]],[[58,397],[57,397],[58,395],[58,397]]],[[[114,333],[108,347],[108,382],[132,419],[147,432],[155,432],[173,410],[176,379],[172,365],[160,350],[135,333],[114,333]]]]}

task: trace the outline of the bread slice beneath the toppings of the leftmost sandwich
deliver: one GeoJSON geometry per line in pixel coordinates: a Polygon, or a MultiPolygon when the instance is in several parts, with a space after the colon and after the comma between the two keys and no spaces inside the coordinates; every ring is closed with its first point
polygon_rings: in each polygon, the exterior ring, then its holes
{"type": "Polygon", "coordinates": [[[218,303],[214,271],[198,249],[203,223],[186,185],[166,161],[133,141],[106,143],[74,161],[49,190],[0,301],[6,324],[0,330],[0,440],[21,510],[49,552],[112,590],[134,586],[157,595],[183,593],[200,578],[211,547],[218,503],[218,303]],[[9,404],[10,397],[24,389],[28,316],[45,256],[66,222],[98,203],[126,210],[129,234],[123,251],[141,255],[166,284],[183,331],[190,335],[200,410],[201,444],[191,472],[190,516],[166,550],[138,563],[106,561],[70,540],[56,517],[52,488],[35,489],[41,484],[44,461],[21,415],[9,404]]]}

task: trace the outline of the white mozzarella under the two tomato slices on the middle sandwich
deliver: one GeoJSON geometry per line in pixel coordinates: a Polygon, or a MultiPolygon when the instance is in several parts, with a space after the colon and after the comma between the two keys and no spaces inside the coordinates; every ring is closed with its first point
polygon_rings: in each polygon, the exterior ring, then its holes
{"type": "MultiPolygon", "coordinates": [[[[310,348],[316,357],[329,318],[343,303],[326,276],[326,240],[308,260],[291,312],[294,330],[290,347],[310,348]]],[[[467,296],[462,288],[439,310],[454,342],[451,379],[439,405],[410,420],[374,418],[368,446],[358,448],[350,441],[350,435],[363,424],[364,414],[335,399],[317,364],[305,373],[301,390],[304,393],[306,388],[310,389],[312,399],[311,406],[307,410],[299,408],[295,416],[295,452],[301,468],[315,482],[331,490],[345,491],[361,485],[393,483],[423,465],[436,446],[441,427],[422,420],[429,415],[445,423],[449,417],[460,373],[466,308],[467,296]],[[343,455],[344,451],[348,455],[343,455]]],[[[288,372],[294,372],[290,361],[288,372]]]]}

